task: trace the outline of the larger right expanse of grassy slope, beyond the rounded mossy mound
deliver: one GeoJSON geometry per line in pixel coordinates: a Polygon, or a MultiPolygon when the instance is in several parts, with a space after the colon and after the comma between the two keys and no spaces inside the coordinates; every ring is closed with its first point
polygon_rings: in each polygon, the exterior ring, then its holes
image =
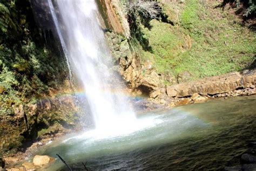
{"type": "Polygon", "coordinates": [[[189,70],[193,78],[214,76],[244,69],[256,53],[255,33],[241,26],[227,12],[205,8],[198,1],[186,1],[181,23],[193,39],[191,50],[183,53],[176,73],[189,70]]]}

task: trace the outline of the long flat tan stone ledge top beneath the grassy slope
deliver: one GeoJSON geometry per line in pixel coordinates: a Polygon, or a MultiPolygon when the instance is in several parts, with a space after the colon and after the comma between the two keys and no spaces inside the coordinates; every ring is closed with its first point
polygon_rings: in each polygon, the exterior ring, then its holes
{"type": "Polygon", "coordinates": [[[209,77],[197,81],[166,87],[169,97],[191,97],[194,93],[200,95],[215,95],[230,91],[253,87],[256,84],[256,74],[242,76],[238,72],[209,77]]]}

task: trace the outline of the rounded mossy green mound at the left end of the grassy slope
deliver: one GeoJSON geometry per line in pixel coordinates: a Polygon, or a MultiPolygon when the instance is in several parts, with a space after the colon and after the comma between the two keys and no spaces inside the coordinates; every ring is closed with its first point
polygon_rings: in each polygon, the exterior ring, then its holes
{"type": "Polygon", "coordinates": [[[157,20],[150,22],[152,29],[144,28],[145,38],[149,39],[153,56],[149,52],[144,56],[151,60],[159,72],[170,72],[179,63],[179,54],[184,39],[180,38],[179,28],[157,20]]]}

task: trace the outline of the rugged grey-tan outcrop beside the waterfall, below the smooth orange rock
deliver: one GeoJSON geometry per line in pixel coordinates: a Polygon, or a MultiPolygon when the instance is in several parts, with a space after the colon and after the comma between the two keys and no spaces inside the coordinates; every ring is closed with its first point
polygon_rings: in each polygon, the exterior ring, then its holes
{"type": "Polygon", "coordinates": [[[139,54],[130,51],[129,43],[123,36],[107,32],[107,41],[118,71],[132,90],[149,95],[160,87],[160,76],[150,64],[142,67],[139,54]]]}

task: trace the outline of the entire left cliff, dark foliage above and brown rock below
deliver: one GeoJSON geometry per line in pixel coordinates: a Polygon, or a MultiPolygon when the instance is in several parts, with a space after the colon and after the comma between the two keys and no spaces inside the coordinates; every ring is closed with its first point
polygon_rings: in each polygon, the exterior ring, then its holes
{"type": "Polygon", "coordinates": [[[29,1],[0,1],[0,155],[76,121],[65,59],[29,1]],[[45,34],[46,33],[46,34],[45,34]],[[46,43],[47,42],[47,43],[46,43]],[[62,86],[59,86],[62,85],[62,86]]]}

